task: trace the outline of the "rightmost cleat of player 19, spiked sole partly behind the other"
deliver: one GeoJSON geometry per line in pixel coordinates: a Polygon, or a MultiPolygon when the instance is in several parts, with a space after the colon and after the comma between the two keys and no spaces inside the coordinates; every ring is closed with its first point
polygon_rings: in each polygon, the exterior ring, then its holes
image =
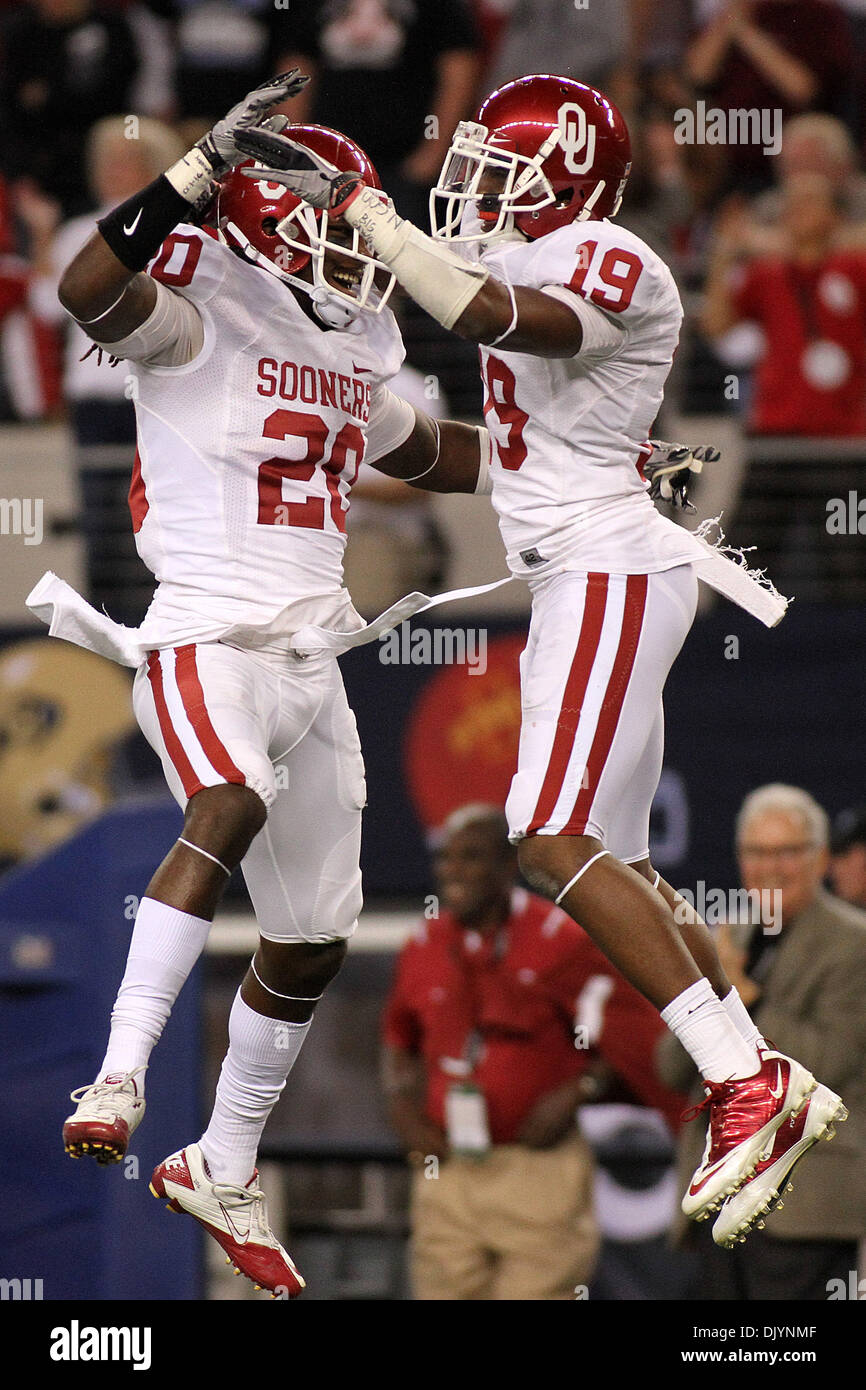
{"type": "Polygon", "coordinates": [[[776,1130],[773,1148],[762,1158],[755,1176],[728,1197],[713,1226],[717,1245],[731,1247],[745,1240],[752,1226],[763,1226],[763,1218],[784,1202],[783,1191],[791,1191],[788,1177],[801,1158],[819,1140],[831,1140],[835,1125],[848,1119],[841,1097],[827,1086],[817,1086],[802,1109],[776,1130]]]}

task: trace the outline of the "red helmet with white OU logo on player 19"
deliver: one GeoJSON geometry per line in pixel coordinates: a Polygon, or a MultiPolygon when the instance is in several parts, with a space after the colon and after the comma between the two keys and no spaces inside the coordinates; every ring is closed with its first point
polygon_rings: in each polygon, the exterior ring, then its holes
{"type": "Polygon", "coordinates": [[[614,217],[631,170],[628,129],[603,92],[549,75],[518,78],[460,121],[430,195],[434,236],[535,240],[569,222],[614,217]]]}

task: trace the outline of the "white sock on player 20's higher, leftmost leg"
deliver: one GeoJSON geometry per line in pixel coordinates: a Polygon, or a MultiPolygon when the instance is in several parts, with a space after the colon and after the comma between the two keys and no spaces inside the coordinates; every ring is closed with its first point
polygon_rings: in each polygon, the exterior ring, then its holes
{"type": "MultiPolygon", "coordinates": [[[[171,1008],[204,949],[211,923],[142,898],[126,970],[111,1011],[108,1051],[97,1080],[146,1066],[171,1008]]],[[[139,1079],[142,1091],[143,1077],[139,1079]]]]}

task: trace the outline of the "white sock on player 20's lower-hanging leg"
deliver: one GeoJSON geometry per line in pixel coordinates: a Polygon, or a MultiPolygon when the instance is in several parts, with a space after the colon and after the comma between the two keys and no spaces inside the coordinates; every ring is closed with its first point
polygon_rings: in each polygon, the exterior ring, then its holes
{"type": "Polygon", "coordinates": [[[282,1095],[311,1022],[268,1019],[250,1009],[240,991],[235,995],[214,1111],[199,1141],[215,1183],[249,1183],[265,1120],[282,1095]]]}

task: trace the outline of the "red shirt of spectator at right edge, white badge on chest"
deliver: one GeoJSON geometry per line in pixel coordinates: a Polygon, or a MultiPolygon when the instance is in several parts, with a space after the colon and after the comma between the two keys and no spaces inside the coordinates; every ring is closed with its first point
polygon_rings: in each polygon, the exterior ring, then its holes
{"type": "Polygon", "coordinates": [[[734,310],[766,339],[749,420],[756,434],[866,434],[866,256],[752,261],[734,310]]]}

